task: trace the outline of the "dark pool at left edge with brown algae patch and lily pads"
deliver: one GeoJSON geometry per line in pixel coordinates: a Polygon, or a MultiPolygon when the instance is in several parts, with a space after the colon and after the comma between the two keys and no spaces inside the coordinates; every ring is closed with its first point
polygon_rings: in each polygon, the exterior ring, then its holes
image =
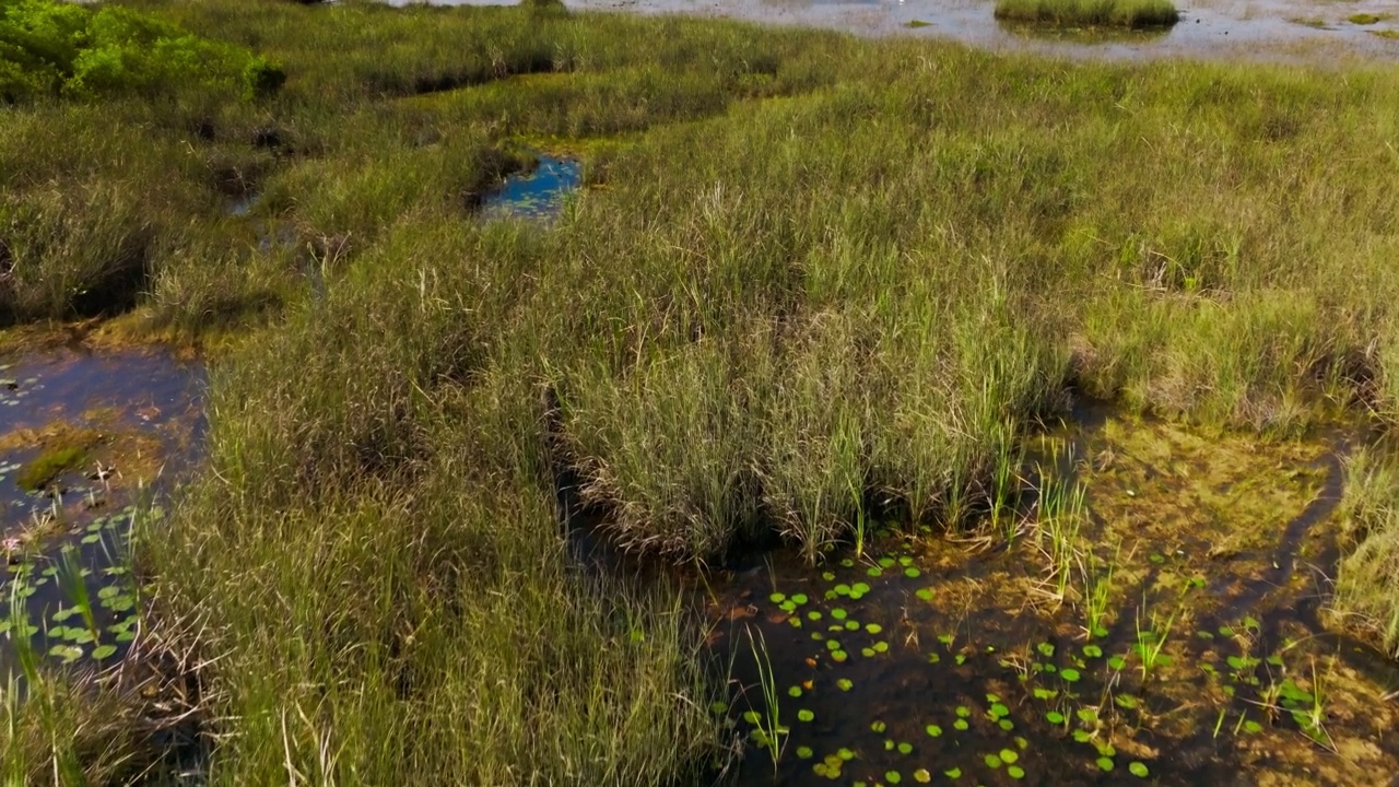
{"type": "Polygon", "coordinates": [[[199,364],[162,350],[0,360],[0,672],[25,643],[63,664],[122,657],[139,604],[127,534],[192,466],[203,385],[199,364]]]}

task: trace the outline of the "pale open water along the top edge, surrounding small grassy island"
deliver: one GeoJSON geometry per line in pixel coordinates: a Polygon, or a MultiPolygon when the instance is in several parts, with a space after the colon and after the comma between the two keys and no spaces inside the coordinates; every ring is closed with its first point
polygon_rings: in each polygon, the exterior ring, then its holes
{"type": "MultiPolygon", "coordinates": [[[[409,0],[393,0],[403,6],[409,0]]],[[[504,0],[434,0],[442,6],[504,0]]],[[[1004,52],[1074,57],[1219,57],[1329,62],[1399,57],[1393,0],[1182,0],[1181,21],[1156,32],[1052,31],[1002,25],[993,0],[569,0],[575,10],[693,14],[834,28],[858,35],[916,35],[1004,52]],[[1379,17],[1370,21],[1357,14],[1379,17]]]]}

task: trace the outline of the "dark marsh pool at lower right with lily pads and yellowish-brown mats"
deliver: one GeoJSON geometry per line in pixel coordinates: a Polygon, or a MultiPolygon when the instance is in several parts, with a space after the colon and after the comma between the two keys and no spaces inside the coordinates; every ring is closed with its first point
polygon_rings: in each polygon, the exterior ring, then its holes
{"type": "Polygon", "coordinates": [[[1391,784],[1399,669],[1316,615],[1344,450],[1097,420],[977,538],[720,577],[736,783],[1391,784]]]}

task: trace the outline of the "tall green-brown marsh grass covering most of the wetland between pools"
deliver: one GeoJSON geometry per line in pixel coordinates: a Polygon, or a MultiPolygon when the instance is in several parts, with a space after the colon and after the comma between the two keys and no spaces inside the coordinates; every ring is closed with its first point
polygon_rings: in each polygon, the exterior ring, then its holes
{"type": "MultiPolygon", "coordinates": [[[[1115,618],[1129,576],[1074,546],[1079,487],[1045,487],[1044,527],[1016,518],[1027,434],[1070,392],[1270,441],[1347,406],[1399,417],[1399,199],[1374,176],[1396,162],[1392,70],[1065,63],[550,3],[120,6],[83,14],[287,74],[253,101],[53,83],[0,118],[7,321],[245,337],[211,374],[204,472],[137,529],[210,783],[722,769],[693,611],[571,560],[561,478],[613,539],[683,563],[774,538],[865,559],[874,522],[990,511],[1087,634],[1137,629],[1147,683],[1185,620],[1115,618]],[[540,147],[579,151],[583,193],[547,227],[478,220],[540,147]]],[[[1340,602],[1382,637],[1395,483],[1365,478],[1340,602]]],[[[811,713],[786,681],[761,681],[774,755],[811,713]]],[[[126,727],[45,710],[60,686],[7,692],[27,730],[7,776],[154,762],[126,727]]],[[[986,700],[974,721],[1003,730],[986,700]]],[[[1154,767],[1072,724],[1104,770],[1154,767]]],[[[1011,746],[988,767],[1023,769],[1011,746]]]]}

